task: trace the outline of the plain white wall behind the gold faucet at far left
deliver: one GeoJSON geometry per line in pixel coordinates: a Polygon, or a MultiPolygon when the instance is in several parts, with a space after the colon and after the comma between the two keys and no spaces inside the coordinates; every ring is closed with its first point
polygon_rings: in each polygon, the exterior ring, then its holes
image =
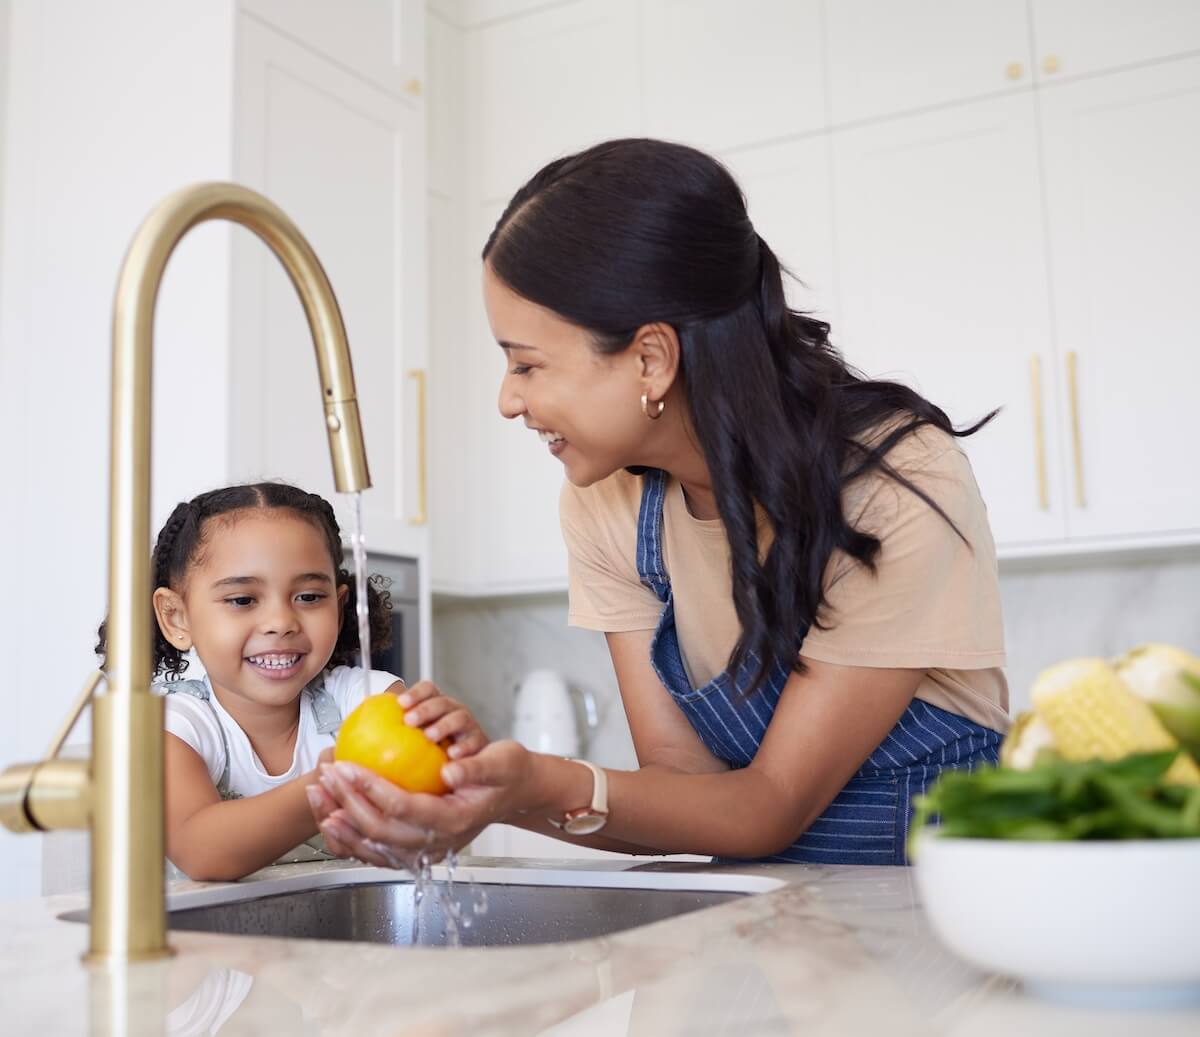
{"type": "MultiPolygon", "coordinates": [[[[0,4],[0,766],[46,750],[96,660],[107,598],[113,288],[182,184],[229,179],[230,5],[0,4]],[[5,41],[19,41],[5,48],[5,41]],[[5,53],[7,49],[8,53],[5,53]],[[121,70],[121,74],[114,74],[121,70]],[[85,84],[85,86],[83,85],[85,84]],[[182,114],[186,113],[186,119],[182,114]],[[62,127],[70,127],[70,131],[62,127]],[[58,130],[58,132],[56,132],[58,130]]],[[[152,521],[221,481],[232,232],[192,232],[155,325],[152,521]]],[[[157,527],[156,527],[157,528],[157,527]]],[[[74,739],[86,741],[86,723],[74,739]]],[[[41,839],[0,831],[0,899],[41,889],[41,839]]]]}

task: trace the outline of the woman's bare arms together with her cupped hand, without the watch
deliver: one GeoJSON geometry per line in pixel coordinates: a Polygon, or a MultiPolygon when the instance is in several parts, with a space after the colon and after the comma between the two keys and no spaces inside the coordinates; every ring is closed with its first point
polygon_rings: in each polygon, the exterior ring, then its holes
{"type": "MultiPolygon", "coordinates": [[[[754,762],[718,769],[649,663],[650,631],[608,637],[630,727],[643,766],[608,771],[602,849],[764,857],[790,846],[829,805],[895,726],[924,670],[835,666],[805,660],[784,688],[754,762]]],[[[406,847],[414,832],[445,845],[488,821],[560,817],[588,803],[592,775],[577,763],[497,742],[451,763],[455,790],[410,796],[359,768],[328,768],[341,803],[343,847],[362,839],[406,847]],[[346,823],[348,822],[348,825],[346,823]]],[[[542,829],[556,834],[554,829],[542,829]]],[[[370,847],[367,847],[370,851],[370,847]]]]}

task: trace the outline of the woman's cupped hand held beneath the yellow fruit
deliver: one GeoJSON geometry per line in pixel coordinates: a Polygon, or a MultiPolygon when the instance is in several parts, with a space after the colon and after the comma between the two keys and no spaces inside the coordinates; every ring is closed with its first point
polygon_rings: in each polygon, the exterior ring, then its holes
{"type": "Polygon", "coordinates": [[[443,768],[451,790],[445,796],[406,792],[354,763],[326,763],[319,786],[310,786],[310,803],[332,853],[412,870],[421,853],[440,861],[518,813],[528,802],[533,759],[517,742],[492,742],[443,768]]]}

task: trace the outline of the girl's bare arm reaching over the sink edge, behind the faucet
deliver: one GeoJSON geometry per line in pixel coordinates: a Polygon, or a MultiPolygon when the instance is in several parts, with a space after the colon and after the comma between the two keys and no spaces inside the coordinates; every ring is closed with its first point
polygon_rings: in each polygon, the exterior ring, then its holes
{"type": "Polygon", "coordinates": [[[241,879],[317,834],[312,772],[245,799],[221,799],[203,757],[167,735],[167,856],[198,882],[241,879]]]}

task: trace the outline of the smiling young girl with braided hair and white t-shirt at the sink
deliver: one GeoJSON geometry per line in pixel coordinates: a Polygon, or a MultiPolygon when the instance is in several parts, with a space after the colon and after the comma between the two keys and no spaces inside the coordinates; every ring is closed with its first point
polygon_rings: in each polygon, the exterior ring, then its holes
{"type": "MultiPolygon", "coordinates": [[[[158,534],[154,673],[167,695],[167,856],[191,879],[240,879],[281,855],[319,852],[306,787],[342,719],[367,694],[409,701],[394,675],[365,681],[355,666],[358,588],[341,558],[334,509],[281,482],[202,493],[158,534]],[[203,675],[188,667],[190,652],[203,675]],[[306,840],[312,849],[299,845],[306,840]]],[[[372,645],[383,648],[390,601],[366,591],[372,645]]],[[[103,627],[96,651],[104,652],[103,627]]],[[[478,729],[455,707],[434,696],[409,723],[439,720],[426,731],[452,737],[457,756],[478,748],[478,729]]]]}

